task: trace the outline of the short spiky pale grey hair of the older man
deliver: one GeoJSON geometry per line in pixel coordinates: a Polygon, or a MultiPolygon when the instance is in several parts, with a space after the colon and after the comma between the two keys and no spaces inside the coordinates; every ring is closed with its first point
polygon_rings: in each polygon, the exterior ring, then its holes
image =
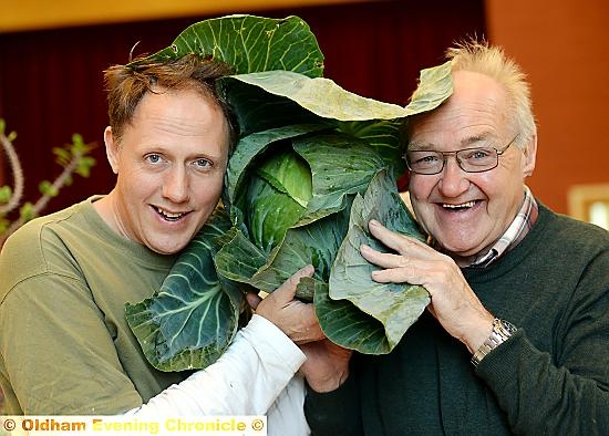
{"type": "Polygon", "coordinates": [[[504,50],[487,41],[471,39],[446,51],[452,71],[469,71],[484,74],[499,83],[508,96],[508,118],[514,121],[518,133],[518,146],[524,146],[535,135],[537,125],[533,114],[530,84],[523,69],[504,50]]]}

